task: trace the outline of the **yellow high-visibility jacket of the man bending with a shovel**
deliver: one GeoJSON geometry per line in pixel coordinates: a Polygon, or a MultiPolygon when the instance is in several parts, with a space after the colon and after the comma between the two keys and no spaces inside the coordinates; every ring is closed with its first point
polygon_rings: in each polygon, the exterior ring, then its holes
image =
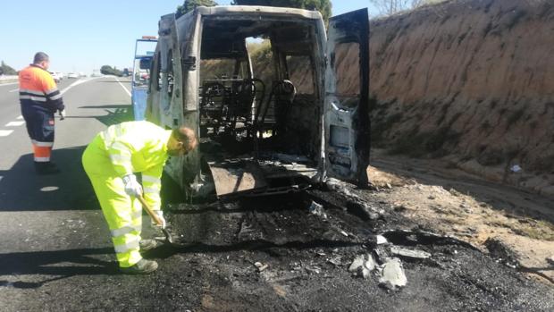
{"type": "Polygon", "coordinates": [[[154,210],[161,208],[162,173],[167,161],[167,140],[172,131],[152,122],[122,122],[100,132],[113,170],[121,177],[142,173],[144,197],[154,210]]]}

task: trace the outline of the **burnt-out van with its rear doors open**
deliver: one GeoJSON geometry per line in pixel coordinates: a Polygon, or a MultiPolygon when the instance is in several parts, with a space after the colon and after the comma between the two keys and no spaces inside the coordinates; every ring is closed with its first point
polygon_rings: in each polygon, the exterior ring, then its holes
{"type": "Polygon", "coordinates": [[[332,17],[327,31],[320,13],[291,8],[164,15],[147,120],[187,125],[200,140],[166,173],[183,190],[220,198],[304,190],[328,176],[366,185],[368,24],[367,10],[332,17]],[[347,59],[358,75],[338,70],[347,59]]]}

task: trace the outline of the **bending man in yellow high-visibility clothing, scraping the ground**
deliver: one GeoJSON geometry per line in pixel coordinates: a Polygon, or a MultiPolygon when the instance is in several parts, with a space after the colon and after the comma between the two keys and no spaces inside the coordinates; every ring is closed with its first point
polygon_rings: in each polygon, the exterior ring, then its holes
{"type": "Polygon", "coordinates": [[[168,156],[183,156],[197,147],[194,131],[187,127],[164,130],[151,122],[122,122],[101,131],[82,156],[82,163],[112,232],[120,270],[148,274],[157,263],[140,256],[153,249],[155,240],[141,240],[142,209],[137,197],[162,220],[160,190],[168,156]],[[142,185],[135,173],[141,173],[142,185]]]}

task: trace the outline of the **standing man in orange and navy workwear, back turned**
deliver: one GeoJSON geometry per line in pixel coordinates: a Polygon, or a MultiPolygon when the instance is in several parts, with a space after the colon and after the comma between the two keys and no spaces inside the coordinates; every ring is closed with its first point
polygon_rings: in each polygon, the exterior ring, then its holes
{"type": "Polygon", "coordinates": [[[50,59],[38,52],[27,68],[19,72],[21,114],[33,145],[35,171],[38,174],[59,173],[50,161],[54,147],[54,114],[65,118],[65,106],[54,78],[48,72],[50,59]]]}

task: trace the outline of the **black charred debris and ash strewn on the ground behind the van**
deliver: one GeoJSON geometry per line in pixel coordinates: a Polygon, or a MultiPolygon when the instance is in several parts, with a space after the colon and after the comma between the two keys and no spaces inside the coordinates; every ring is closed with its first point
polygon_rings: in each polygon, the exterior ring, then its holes
{"type": "Polygon", "coordinates": [[[200,272],[260,290],[278,283],[295,304],[321,304],[301,296],[319,289],[374,300],[377,309],[398,308],[413,296],[431,296],[447,309],[552,306],[547,286],[467,242],[410,222],[373,197],[382,191],[330,179],[288,194],[172,204],[175,242],[164,257],[185,255],[208,266],[200,272]],[[390,302],[374,299],[386,293],[394,294],[390,302]]]}

